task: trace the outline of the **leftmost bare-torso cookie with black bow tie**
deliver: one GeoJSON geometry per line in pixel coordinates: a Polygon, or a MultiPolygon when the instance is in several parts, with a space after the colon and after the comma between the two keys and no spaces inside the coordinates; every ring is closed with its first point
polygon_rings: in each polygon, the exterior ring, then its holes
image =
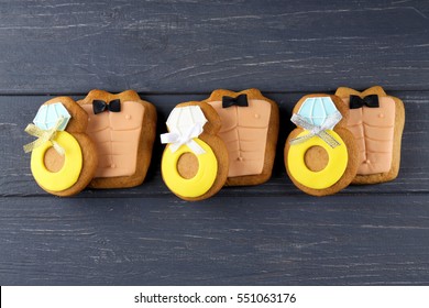
{"type": "Polygon", "coordinates": [[[155,107],[133,90],[91,90],[78,103],[87,112],[86,133],[98,151],[91,188],[124,188],[143,183],[156,131],[155,107]]]}

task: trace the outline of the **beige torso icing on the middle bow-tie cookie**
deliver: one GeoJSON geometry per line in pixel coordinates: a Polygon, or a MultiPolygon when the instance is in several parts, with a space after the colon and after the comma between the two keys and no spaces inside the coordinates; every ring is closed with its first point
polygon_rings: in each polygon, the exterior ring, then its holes
{"type": "Polygon", "coordinates": [[[219,136],[228,148],[228,177],[261,174],[264,168],[271,103],[257,99],[249,100],[248,107],[222,108],[221,101],[209,103],[222,122],[219,136]]]}

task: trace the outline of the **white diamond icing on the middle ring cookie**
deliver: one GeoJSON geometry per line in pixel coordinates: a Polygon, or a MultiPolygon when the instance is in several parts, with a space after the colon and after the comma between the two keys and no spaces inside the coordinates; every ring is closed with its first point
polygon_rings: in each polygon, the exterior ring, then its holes
{"type": "Polygon", "coordinates": [[[176,107],[168,116],[167,128],[170,132],[184,135],[195,124],[201,124],[202,128],[206,122],[207,119],[199,106],[176,107]]]}

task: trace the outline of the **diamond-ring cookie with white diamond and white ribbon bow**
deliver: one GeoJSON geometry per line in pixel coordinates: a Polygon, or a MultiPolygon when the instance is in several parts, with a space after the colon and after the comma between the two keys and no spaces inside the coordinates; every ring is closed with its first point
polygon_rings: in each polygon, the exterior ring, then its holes
{"type": "Polygon", "coordinates": [[[167,119],[167,144],[161,172],[165,185],[188,201],[207,199],[218,193],[228,177],[228,150],[218,136],[221,121],[206,102],[177,105],[167,119]]]}

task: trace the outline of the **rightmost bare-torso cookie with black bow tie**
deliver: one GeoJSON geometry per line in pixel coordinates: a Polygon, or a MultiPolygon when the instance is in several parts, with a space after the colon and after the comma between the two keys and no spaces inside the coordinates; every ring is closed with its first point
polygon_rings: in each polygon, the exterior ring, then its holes
{"type": "Polygon", "coordinates": [[[348,129],[353,133],[361,161],[353,184],[375,184],[395,179],[399,173],[400,141],[405,109],[400,99],[375,86],[363,92],[338,88],[348,109],[348,129]]]}

